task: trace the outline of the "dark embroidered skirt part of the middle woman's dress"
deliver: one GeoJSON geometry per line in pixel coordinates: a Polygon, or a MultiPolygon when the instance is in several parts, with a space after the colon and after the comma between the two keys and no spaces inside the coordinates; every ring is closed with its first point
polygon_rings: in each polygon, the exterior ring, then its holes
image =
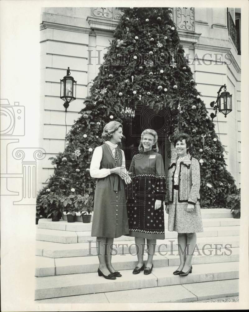
{"type": "Polygon", "coordinates": [[[148,239],[164,239],[163,201],[165,176],[156,174],[135,174],[127,188],[127,213],[129,235],[148,239]],[[155,210],[155,201],[162,205],[155,210]]]}

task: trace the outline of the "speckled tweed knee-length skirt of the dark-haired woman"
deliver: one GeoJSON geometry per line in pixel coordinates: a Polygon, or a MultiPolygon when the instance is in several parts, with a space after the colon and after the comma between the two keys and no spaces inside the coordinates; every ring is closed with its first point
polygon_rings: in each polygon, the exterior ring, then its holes
{"type": "Polygon", "coordinates": [[[178,202],[178,191],[174,190],[174,201],[169,203],[168,231],[178,233],[203,232],[200,204],[197,201],[195,208],[187,212],[187,202],[178,202]]]}

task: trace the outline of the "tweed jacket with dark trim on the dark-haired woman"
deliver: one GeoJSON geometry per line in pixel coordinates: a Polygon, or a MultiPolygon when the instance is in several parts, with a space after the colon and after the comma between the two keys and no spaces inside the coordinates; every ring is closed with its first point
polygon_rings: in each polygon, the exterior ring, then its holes
{"type": "MultiPolygon", "coordinates": [[[[178,202],[195,204],[197,200],[200,200],[200,165],[196,158],[193,158],[190,154],[187,155],[187,159],[180,163],[178,202]]],[[[170,163],[168,168],[165,204],[173,202],[174,173],[178,157],[170,163]]]]}

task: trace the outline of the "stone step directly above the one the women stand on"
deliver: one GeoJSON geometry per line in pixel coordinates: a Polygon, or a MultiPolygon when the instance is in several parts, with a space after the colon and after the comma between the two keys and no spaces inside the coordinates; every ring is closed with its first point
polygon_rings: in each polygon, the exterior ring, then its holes
{"type": "MultiPolygon", "coordinates": [[[[209,249],[194,253],[192,259],[193,264],[202,263],[218,263],[218,262],[231,262],[239,261],[239,248],[231,248],[231,251],[225,248],[221,249],[209,249]]],[[[147,256],[144,256],[144,261],[146,261],[147,256]]],[[[115,270],[131,270],[137,264],[136,255],[115,255],[112,257],[112,264],[115,270]]],[[[153,257],[154,267],[164,267],[164,266],[179,266],[180,259],[178,252],[174,251],[171,254],[160,255],[155,253],[153,257]]],[[[46,258],[36,256],[36,267],[35,276],[52,276],[52,275],[63,275],[63,274],[77,274],[77,273],[91,273],[97,272],[99,267],[99,261],[97,256],[91,257],[68,257],[68,258],[46,258]]]]}

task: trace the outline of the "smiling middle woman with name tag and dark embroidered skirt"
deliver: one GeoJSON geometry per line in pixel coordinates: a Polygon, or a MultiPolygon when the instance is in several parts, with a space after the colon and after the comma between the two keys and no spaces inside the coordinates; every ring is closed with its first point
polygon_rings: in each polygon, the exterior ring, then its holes
{"type": "Polygon", "coordinates": [[[144,274],[148,275],[153,269],[156,240],[165,238],[163,201],[166,177],[162,155],[157,153],[156,131],[143,131],[139,152],[132,158],[130,165],[132,183],[129,187],[127,211],[129,236],[135,237],[138,256],[133,274],[144,270],[144,274]],[[145,239],[148,248],[146,266],[143,262],[145,239]]]}

